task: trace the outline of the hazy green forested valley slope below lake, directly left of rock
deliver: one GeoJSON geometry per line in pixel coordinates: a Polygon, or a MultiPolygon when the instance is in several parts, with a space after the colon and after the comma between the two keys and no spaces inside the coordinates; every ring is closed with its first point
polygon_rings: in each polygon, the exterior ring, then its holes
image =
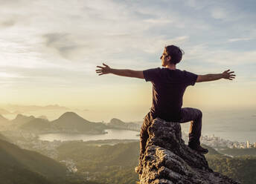
{"type": "Polygon", "coordinates": [[[89,172],[90,178],[99,183],[134,184],[138,174],[138,142],[117,145],[86,145],[85,142],[68,142],[58,148],[59,160],[71,159],[78,172],[89,172]]]}

